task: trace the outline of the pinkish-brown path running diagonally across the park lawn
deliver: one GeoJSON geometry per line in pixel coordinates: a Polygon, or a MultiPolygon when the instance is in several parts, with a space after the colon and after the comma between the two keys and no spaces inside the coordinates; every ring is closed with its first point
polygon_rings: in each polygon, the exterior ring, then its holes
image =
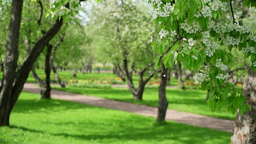
{"type": "MultiPolygon", "coordinates": [[[[26,92],[40,93],[40,88],[32,83],[26,83],[23,88],[26,92]]],[[[87,104],[91,106],[99,106],[103,108],[110,108],[114,110],[122,110],[126,112],[132,112],[134,114],[140,114],[143,116],[156,117],[157,108],[152,106],[145,106],[139,104],[133,104],[128,102],[120,102],[116,100],[109,100],[106,98],[98,98],[94,96],[85,96],[82,94],[74,94],[70,92],[64,92],[60,90],[51,91],[52,98],[58,98],[61,100],[68,100],[81,104],[87,104]]],[[[179,112],[176,110],[168,109],[166,112],[166,120],[173,120],[178,123],[199,126],[202,128],[212,128],[216,130],[232,132],[234,121],[224,120],[220,118],[212,118],[209,116],[202,116],[198,114],[192,114],[188,112],[179,112]]]]}

